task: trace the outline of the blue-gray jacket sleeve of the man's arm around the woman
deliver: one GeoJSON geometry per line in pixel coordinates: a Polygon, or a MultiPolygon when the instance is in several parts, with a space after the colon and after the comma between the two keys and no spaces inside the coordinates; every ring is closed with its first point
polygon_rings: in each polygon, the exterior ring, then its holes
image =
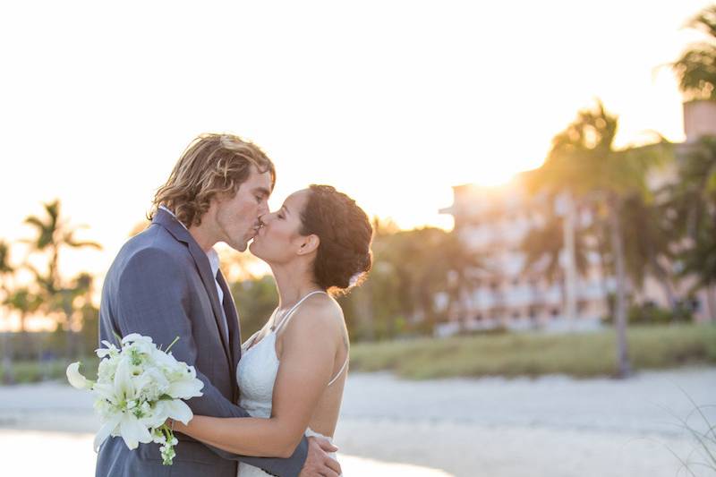
{"type": "MultiPolygon", "coordinates": [[[[135,253],[126,263],[118,283],[117,326],[122,336],[139,333],[151,336],[157,345],[172,346],[172,354],[179,361],[196,367],[197,348],[192,336],[191,299],[188,280],[178,260],[168,252],[148,248],[135,253]]],[[[204,383],[203,396],[192,397],[186,404],[192,412],[214,417],[249,417],[249,413],[226,399],[200,371],[197,378],[204,383]]],[[[207,446],[219,456],[240,460],[260,467],[268,473],[297,476],[301,473],[308,453],[304,438],[294,455],[287,459],[238,456],[216,447],[207,446]]]]}

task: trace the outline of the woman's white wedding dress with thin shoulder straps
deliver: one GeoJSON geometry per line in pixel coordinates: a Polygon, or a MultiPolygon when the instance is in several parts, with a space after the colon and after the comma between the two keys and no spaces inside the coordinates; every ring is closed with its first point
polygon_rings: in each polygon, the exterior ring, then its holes
{"type": "MultiPolygon", "coordinates": [[[[323,293],[325,292],[317,291],[306,294],[293,308],[286,312],[284,319],[281,320],[275,329],[269,331],[266,336],[261,338],[259,343],[253,343],[259,334],[259,332],[256,332],[242,345],[242,358],[239,360],[239,365],[236,369],[236,379],[238,379],[239,388],[241,390],[239,403],[251,416],[266,419],[271,417],[274,383],[276,382],[278,372],[278,358],[276,355],[276,334],[278,330],[291,319],[294,311],[306,298],[312,294],[323,293]]],[[[336,382],[336,379],[343,374],[347,364],[348,358],[346,357],[343,367],[338,371],[336,377],[330,380],[328,386],[336,382]]],[[[328,439],[331,443],[333,442],[332,437],[324,436],[319,432],[311,430],[311,428],[306,430],[305,435],[308,437],[321,437],[328,439]]],[[[331,456],[336,457],[335,455],[331,456]]],[[[270,474],[262,471],[258,467],[244,464],[243,462],[239,463],[238,477],[265,477],[267,475],[270,474]]]]}

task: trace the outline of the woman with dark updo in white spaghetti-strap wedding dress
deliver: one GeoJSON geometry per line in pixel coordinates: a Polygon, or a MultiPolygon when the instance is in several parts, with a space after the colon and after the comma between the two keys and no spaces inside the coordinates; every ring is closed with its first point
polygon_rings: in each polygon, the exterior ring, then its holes
{"type": "MultiPolygon", "coordinates": [[[[354,200],[327,185],[294,192],[260,220],[249,250],[270,266],[279,302],[242,345],[236,370],[240,404],[253,417],[195,415],[189,425],[173,425],[234,454],[288,457],[304,435],[332,441],[349,351],[343,311],[333,296],[371,269],[372,229],[354,200]]],[[[265,475],[239,464],[240,477],[265,475]]]]}

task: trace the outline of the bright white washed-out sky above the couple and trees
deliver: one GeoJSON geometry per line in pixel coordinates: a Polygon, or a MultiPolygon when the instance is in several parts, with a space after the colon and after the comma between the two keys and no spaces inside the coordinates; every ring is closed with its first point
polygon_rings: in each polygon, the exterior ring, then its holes
{"type": "Polygon", "coordinates": [[[234,132],[272,206],[329,183],[400,226],[451,226],[451,186],[539,166],[595,97],[618,141],[683,139],[673,61],[706,1],[7,2],[0,238],[60,198],[102,275],[186,144],[234,132]]]}

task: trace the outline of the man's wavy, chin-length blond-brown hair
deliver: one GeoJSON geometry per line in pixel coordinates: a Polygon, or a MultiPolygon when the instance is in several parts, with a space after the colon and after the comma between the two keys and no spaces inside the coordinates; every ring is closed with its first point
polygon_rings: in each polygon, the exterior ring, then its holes
{"type": "Polygon", "coordinates": [[[158,189],[149,219],[163,205],[184,226],[200,226],[210,201],[217,195],[233,197],[251,175],[251,166],[261,174],[271,174],[273,189],[276,169],[258,146],[232,134],[201,134],[158,189]]]}

